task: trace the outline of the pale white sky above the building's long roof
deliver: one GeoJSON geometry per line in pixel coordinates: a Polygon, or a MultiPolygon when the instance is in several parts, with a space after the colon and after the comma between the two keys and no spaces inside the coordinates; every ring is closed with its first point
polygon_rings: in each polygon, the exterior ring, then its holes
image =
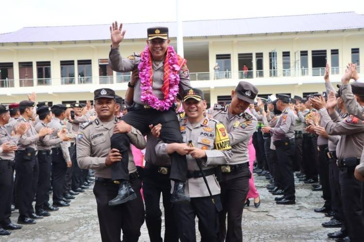
{"type": "MultiPolygon", "coordinates": [[[[364,15],[364,0],[180,0],[182,21],[335,12],[364,15]]],[[[4,0],[0,33],[23,27],[176,21],[176,0],[4,0]]]]}

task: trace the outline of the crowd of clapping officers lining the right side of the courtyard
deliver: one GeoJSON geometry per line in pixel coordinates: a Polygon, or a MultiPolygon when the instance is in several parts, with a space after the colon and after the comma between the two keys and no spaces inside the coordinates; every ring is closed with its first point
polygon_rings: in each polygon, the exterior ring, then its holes
{"type": "Polygon", "coordinates": [[[322,226],[341,228],[328,237],[359,242],[364,241],[364,83],[349,64],[335,91],[329,73],[327,65],[323,94],[272,95],[250,107],[258,120],[254,172],[270,181],[268,191],[280,195],[277,204],[296,203],[294,174],[296,182],[312,184],[324,199],[314,211],[331,217],[322,226]]]}

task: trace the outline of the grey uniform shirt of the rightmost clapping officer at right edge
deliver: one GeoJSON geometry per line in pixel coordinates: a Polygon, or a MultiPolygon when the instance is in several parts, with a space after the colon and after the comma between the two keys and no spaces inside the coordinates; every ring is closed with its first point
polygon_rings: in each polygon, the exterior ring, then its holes
{"type": "Polygon", "coordinates": [[[336,147],[337,158],[360,158],[364,146],[364,124],[362,121],[350,115],[335,123],[331,117],[338,116],[336,112],[329,115],[326,109],[322,109],[319,113],[326,132],[329,135],[341,135],[336,147]]]}

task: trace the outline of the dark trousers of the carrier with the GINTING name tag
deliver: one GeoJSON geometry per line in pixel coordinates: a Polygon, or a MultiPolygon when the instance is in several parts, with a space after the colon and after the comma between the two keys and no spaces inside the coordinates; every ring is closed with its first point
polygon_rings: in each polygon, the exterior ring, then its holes
{"type": "Polygon", "coordinates": [[[130,182],[137,198],[122,205],[110,207],[108,203],[116,197],[119,185],[111,181],[95,181],[94,194],[103,242],[120,242],[121,230],[123,242],[137,242],[139,239],[140,228],[144,223],[144,205],[140,194],[142,184],[139,178],[131,179],[130,182]]]}

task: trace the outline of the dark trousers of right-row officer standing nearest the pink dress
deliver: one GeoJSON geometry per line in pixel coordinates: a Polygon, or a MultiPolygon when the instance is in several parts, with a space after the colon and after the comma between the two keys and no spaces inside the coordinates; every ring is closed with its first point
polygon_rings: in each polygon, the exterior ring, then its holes
{"type": "Polygon", "coordinates": [[[295,139],[275,141],[278,158],[278,168],[281,171],[281,189],[286,199],[295,200],[295,177],[293,176],[293,161],[295,156],[295,139]],[[279,142],[279,143],[277,143],[279,142]]]}

